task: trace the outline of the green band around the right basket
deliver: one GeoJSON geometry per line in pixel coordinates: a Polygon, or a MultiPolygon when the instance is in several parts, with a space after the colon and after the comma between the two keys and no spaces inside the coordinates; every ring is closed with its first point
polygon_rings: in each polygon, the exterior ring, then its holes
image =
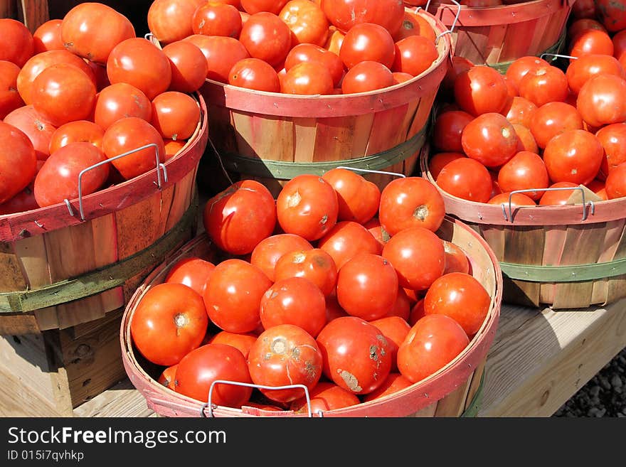
{"type": "Polygon", "coordinates": [[[578,282],[605,279],[626,274],[626,258],[615,261],[575,264],[571,266],[538,266],[500,262],[502,274],[509,279],[530,282],[578,282]]]}

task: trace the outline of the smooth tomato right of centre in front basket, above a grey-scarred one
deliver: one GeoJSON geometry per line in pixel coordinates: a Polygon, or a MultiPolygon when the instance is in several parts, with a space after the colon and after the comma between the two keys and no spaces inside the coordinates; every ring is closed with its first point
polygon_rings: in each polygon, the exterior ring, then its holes
{"type": "Polygon", "coordinates": [[[378,254],[360,253],[337,274],[337,300],[351,316],[366,321],[382,318],[398,298],[398,274],[378,254]]]}

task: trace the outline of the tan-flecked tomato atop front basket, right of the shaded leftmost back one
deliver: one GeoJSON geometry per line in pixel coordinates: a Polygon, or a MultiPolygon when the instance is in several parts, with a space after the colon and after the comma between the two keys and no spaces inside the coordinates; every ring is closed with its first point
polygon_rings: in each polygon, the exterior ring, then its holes
{"type": "Polygon", "coordinates": [[[295,176],[276,200],[278,223],[285,233],[319,240],[336,224],[337,193],[324,178],[312,174],[295,176]]]}

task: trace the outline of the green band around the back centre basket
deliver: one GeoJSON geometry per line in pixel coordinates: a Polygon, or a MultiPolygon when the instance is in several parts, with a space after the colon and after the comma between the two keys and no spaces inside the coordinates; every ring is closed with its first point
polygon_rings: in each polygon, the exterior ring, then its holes
{"type": "Polygon", "coordinates": [[[394,164],[413,156],[424,145],[426,127],[424,125],[415,136],[407,141],[394,146],[386,151],[372,154],[371,156],[359,157],[358,159],[344,159],[343,161],[323,162],[293,162],[293,161],[270,161],[267,159],[252,159],[240,154],[221,154],[224,167],[228,171],[245,173],[249,176],[262,178],[280,178],[289,180],[302,173],[312,173],[322,176],[331,168],[347,166],[352,168],[366,168],[368,170],[383,170],[394,164]]]}

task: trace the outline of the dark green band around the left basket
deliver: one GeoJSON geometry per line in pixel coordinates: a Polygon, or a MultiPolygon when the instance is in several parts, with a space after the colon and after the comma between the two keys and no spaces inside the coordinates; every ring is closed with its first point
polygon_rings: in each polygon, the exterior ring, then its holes
{"type": "Polygon", "coordinates": [[[26,313],[122,286],[125,281],[151,265],[156,265],[178,245],[189,240],[189,233],[194,230],[197,217],[196,194],[196,198],[192,200],[191,206],[181,220],[149,247],[110,266],[73,279],[65,279],[33,290],[3,292],[0,294],[0,313],[26,313]]]}

